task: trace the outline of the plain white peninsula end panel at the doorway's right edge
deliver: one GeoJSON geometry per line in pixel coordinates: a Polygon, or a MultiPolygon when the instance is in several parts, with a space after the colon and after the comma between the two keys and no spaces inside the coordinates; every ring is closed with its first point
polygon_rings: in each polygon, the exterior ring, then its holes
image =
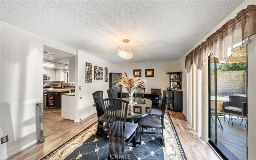
{"type": "Polygon", "coordinates": [[[75,92],[61,94],[61,117],[75,120],[75,92]]]}

